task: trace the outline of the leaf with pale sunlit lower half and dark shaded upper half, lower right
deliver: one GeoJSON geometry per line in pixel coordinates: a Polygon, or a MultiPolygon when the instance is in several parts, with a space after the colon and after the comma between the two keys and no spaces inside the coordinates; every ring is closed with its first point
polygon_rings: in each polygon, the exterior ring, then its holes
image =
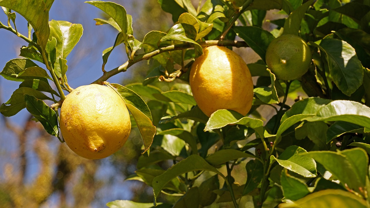
{"type": "Polygon", "coordinates": [[[292,145],[286,148],[278,158],[271,155],[270,160],[271,162],[276,160],[282,167],[302,175],[303,177],[316,177],[316,162],[312,158],[307,157],[307,155],[302,155],[305,152],[307,151],[302,147],[292,145]]]}

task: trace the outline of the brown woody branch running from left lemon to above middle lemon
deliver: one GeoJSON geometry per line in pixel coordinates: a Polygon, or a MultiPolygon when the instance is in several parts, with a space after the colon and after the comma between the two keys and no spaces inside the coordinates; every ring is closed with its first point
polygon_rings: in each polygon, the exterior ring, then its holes
{"type": "MultiPolygon", "coordinates": [[[[202,41],[199,42],[199,45],[202,47],[208,47],[208,46],[233,46],[233,47],[248,47],[248,44],[246,44],[244,41],[233,41],[233,40],[208,40],[208,41],[202,41]]],[[[92,82],[91,84],[102,84],[104,81],[108,80],[108,78],[120,73],[125,72],[129,67],[134,65],[135,63],[142,61],[142,60],[148,60],[158,54],[169,52],[169,51],[175,51],[175,50],[183,50],[186,48],[194,48],[193,43],[183,43],[183,44],[177,44],[177,45],[171,45],[171,46],[165,46],[162,48],[158,48],[157,50],[144,53],[144,54],[138,54],[134,57],[131,61],[126,61],[126,63],[122,64],[119,67],[116,67],[110,71],[106,71],[100,78],[92,82]]]]}

